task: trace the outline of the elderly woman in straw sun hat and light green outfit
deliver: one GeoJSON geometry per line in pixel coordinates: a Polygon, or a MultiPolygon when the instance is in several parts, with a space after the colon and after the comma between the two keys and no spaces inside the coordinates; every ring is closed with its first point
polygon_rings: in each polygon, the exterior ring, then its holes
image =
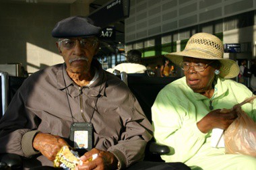
{"type": "MultiPolygon", "coordinates": [[[[253,93],[245,85],[230,80],[239,73],[234,60],[223,58],[222,42],[216,36],[198,33],[185,50],[166,54],[183,69],[185,77],[174,81],[158,94],[152,106],[154,136],[170,146],[166,162],[180,161],[191,169],[256,169],[256,158],[225,154],[224,147],[213,147],[212,130],[226,130],[237,118],[232,108],[253,93]]],[[[256,102],[242,109],[256,120],[256,102]]]]}

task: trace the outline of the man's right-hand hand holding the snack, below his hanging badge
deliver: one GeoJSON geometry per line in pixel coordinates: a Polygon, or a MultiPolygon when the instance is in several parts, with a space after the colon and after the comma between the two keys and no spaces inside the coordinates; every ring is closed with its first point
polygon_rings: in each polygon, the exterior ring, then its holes
{"type": "Polygon", "coordinates": [[[91,151],[85,153],[80,159],[84,162],[83,165],[78,165],[75,167],[76,170],[80,169],[117,169],[117,158],[113,153],[107,151],[100,151],[97,148],[93,148],[91,151]],[[98,154],[98,157],[93,161],[88,161],[88,159],[92,158],[92,155],[98,154]]]}

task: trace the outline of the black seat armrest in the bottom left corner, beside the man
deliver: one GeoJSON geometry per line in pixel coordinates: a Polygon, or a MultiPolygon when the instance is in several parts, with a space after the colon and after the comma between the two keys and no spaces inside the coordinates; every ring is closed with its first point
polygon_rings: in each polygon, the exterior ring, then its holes
{"type": "Polygon", "coordinates": [[[7,165],[11,169],[23,169],[22,157],[13,153],[3,153],[0,155],[1,165],[7,165]]]}

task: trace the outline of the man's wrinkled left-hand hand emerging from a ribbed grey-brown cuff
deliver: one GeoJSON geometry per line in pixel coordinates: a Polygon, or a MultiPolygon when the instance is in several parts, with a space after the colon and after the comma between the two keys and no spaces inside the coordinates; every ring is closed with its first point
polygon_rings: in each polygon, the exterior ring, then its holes
{"type": "Polygon", "coordinates": [[[50,161],[54,161],[57,153],[67,142],[60,136],[38,133],[34,137],[33,147],[42,153],[50,161]]]}

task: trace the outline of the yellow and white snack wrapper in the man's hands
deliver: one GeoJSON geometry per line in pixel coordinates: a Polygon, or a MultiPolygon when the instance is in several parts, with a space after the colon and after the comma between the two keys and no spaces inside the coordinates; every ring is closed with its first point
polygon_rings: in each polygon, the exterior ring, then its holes
{"type": "Polygon", "coordinates": [[[53,166],[62,167],[65,170],[73,170],[76,165],[82,165],[82,163],[77,153],[69,150],[69,146],[63,146],[57,153],[53,166]]]}

